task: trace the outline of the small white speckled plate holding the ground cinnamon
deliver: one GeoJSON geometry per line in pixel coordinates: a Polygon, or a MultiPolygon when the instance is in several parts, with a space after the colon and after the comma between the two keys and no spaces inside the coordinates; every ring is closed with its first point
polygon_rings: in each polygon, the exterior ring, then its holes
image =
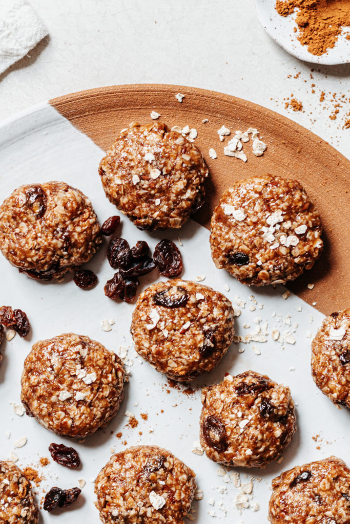
{"type": "Polygon", "coordinates": [[[262,27],[270,37],[283,49],[293,54],[294,57],[305,62],[312,62],[324,65],[336,65],[348,63],[350,61],[350,40],[345,35],[340,35],[334,46],[321,56],[315,56],[307,51],[306,46],[302,46],[298,40],[298,32],[294,32],[295,14],[284,17],[280,16],[275,9],[275,0],[254,0],[258,18],[262,27]]]}

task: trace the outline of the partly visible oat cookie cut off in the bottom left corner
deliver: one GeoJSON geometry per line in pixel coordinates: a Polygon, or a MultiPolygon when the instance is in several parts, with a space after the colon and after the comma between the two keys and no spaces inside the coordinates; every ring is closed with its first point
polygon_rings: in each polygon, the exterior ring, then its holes
{"type": "Polygon", "coordinates": [[[37,524],[39,511],[30,482],[11,461],[0,461],[0,522],[37,524]]]}

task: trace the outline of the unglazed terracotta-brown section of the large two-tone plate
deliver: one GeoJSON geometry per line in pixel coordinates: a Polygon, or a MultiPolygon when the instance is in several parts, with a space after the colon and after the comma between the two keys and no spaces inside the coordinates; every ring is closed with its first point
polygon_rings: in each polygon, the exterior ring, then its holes
{"type": "MultiPolygon", "coordinates": [[[[132,121],[148,123],[152,110],[161,121],[195,127],[196,145],[210,168],[208,202],[196,220],[208,227],[221,193],[235,180],[261,173],[298,179],[319,209],[324,224],[324,252],[319,261],[289,285],[305,301],[323,313],[348,305],[350,287],[350,162],[302,126],[264,107],[234,96],[178,85],[116,85],[62,96],[50,101],[63,116],[106,149],[119,130],[132,121]],[[176,93],[185,95],[179,103],[176,93]],[[208,122],[203,123],[203,119],[208,122]],[[224,155],[217,130],[225,125],[233,132],[256,127],[267,151],[262,157],[245,145],[248,161],[224,155]],[[213,147],[218,158],[209,158],[213,147]],[[308,283],[314,283],[312,293],[308,283]],[[315,304],[316,302],[316,304],[315,304]]],[[[227,140],[226,140],[227,141],[227,140]]]]}

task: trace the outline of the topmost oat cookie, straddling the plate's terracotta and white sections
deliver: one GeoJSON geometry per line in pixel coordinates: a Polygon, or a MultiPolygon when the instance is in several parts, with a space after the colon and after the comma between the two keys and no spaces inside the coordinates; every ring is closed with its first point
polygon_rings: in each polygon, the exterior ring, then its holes
{"type": "Polygon", "coordinates": [[[187,138],[155,122],[122,130],[99,173],[107,198],[137,227],[164,230],[201,207],[208,168],[187,138]]]}

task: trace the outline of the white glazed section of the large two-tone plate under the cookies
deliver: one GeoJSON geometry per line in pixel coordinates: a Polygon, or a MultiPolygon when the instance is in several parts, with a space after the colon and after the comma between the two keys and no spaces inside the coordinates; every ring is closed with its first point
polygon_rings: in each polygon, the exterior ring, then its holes
{"type": "MultiPolygon", "coordinates": [[[[123,111],[125,124],[122,127],[125,127],[130,110],[123,108],[123,111]]],[[[103,123],[102,112],[102,127],[103,123]]],[[[118,130],[115,128],[115,132],[118,130]]],[[[0,201],[23,183],[64,180],[90,197],[102,223],[115,214],[114,206],[105,198],[98,176],[102,156],[103,150],[54,107],[48,103],[37,106],[0,126],[0,201]]],[[[19,274],[0,256],[0,302],[26,311],[32,326],[25,339],[16,335],[12,341],[5,341],[1,348],[4,362],[0,367],[0,460],[15,452],[20,467],[30,465],[43,475],[43,481],[35,488],[38,501],[52,486],[70,488],[77,486],[78,479],[86,480],[75,505],[64,511],[55,510],[52,514],[41,509],[40,524],[97,524],[99,516],[93,505],[94,478],[113,450],[123,450],[125,445],[160,445],[193,468],[198,488],[204,492],[203,500],[195,501],[193,505],[193,521],[197,524],[213,522],[209,511],[214,512],[217,521],[236,524],[241,520],[245,524],[261,524],[267,521],[271,480],[283,470],[332,454],[350,463],[349,411],[337,410],[316,388],[310,373],[310,342],[322,322],[322,313],[293,294],[284,300],[282,293],[285,289],[281,286],[276,289],[248,288],[226,271],[218,270],[210,257],[209,231],[194,221],[189,221],[179,231],[150,234],[140,232],[123,217],[121,235],[130,245],[145,239],[152,250],[160,238],[172,238],[178,243],[178,236],[181,237],[183,278],[193,280],[197,275],[205,276],[204,283],[225,293],[240,311],[240,316],[235,319],[236,334],[245,336],[260,329],[263,336],[259,337],[261,342],[232,344],[214,372],[198,378],[193,385],[194,393],[186,395],[182,387],[179,390],[170,387],[166,378],[143,362],[133,350],[130,324],[134,305],[114,302],[104,296],[103,285],[113,275],[105,258],[106,241],[87,264],[99,279],[97,287],[90,291],[78,289],[71,277],[61,283],[31,280],[19,274]],[[102,331],[101,320],[111,318],[115,320],[112,330],[102,331]],[[289,342],[294,339],[295,343],[273,341],[271,332],[274,329],[280,331],[281,340],[289,333],[293,337],[288,337],[289,342]],[[120,412],[107,428],[84,442],[59,438],[33,418],[25,414],[17,416],[10,404],[19,402],[20,375],[31,345],[39,339],[69,331],[86,334],[119,354],[123,347],[129,350],[130,382],[126,384],[120,412]],[[247,477],[254,477],[250,507],[240,515],[235,506],[239,488],[235,487],[229,475],[235,470],[224,472],[225,476],[218,475],[218,465],[205,455],[192,453],[192,449],[193,443],[198,441],[200,387],[217,383],[225,372],[238,374],[247,369],[268,374],[279,383],[290,386],[297,406],[298,432],[284,453],[282,463],[272,463],[261,471],[236,469],[242,483],[247,482],[247,477]],[[134,413],[139,421],[136,428],[126,425],[126,411],[134,413]],[[144,420],[141,413],[147,413],[148,420],[144,420]],[[122,432],[121,439],[116,438],[119,432],[122,432]],[[314,435],[320,435],[319,442],[313,440],[314,435]],[[16,441],[23,436],[28,439],[26,445],[16,449],[16,441]],[[40,457],[50,458],[48,446],[51,442],[73,445],[78,450],[82,461],[78,471],[68,470],[51,460],[48,466],[40,467],[40,457]],[[261,477],[261,481],[258,482],[256,477],[261,477]],[[214,505],[209,503],[213,500],[214,505]],[[258,511],[253,510],[258,507],[258,511]]],[[[156,280],[159,280],[156,271],[142,277],[141,290],[156,280]]]]}

